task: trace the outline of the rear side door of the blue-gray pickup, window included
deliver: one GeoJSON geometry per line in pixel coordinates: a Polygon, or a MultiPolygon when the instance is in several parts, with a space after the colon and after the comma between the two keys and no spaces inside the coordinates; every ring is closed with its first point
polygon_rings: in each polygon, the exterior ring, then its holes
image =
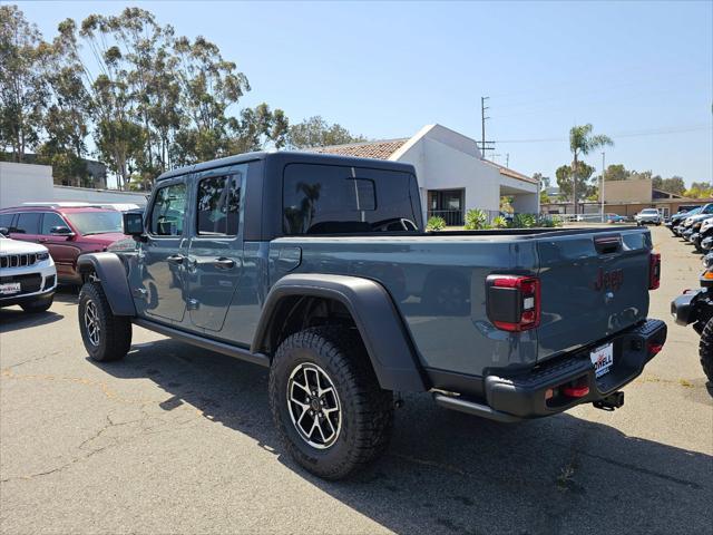
{"type": "MultiPolygon", "coordinates": [[[[247,164],[195,177],[195,217],[186,266],[191,322],[219,331],[243,270],[242,192],[247,164]]],[[[193,212],[193,211],[192,211],[193,212]]]]}

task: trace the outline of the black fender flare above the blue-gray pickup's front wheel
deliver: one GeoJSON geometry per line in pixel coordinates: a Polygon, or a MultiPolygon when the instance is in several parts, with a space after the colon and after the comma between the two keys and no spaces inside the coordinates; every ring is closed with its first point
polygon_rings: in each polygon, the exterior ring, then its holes
{"type": "Polygon", "coordinates": [[[136,315],[136,307],[121,259],[115,253],[88,253],[77,260],[79,273],[95,272],[114,315],[136,315]]]}

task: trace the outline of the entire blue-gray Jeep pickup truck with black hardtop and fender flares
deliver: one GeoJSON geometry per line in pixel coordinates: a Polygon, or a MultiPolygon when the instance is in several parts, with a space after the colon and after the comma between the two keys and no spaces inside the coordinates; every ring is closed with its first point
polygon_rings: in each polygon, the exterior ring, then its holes
{"type": "MultiPolygon", "coordinates": [[[[130,246],[86,254],[85,347],[131,325],[270,369],[289,453],[336,479],[375,458],[400,392],[499,421],[613,410],[661,350],[645,228],[423,232],[410,165],[254,153],[156,181],[130,246]]],[[[125,245],[126,245],[125,243],[125,245]]]]}

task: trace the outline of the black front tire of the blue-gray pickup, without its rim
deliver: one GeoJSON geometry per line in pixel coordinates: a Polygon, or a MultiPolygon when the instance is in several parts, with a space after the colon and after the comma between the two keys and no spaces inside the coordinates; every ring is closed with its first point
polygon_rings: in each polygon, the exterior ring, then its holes
{"type": "Polygon", "coordinates": [[[79,331],[85,349],[92,360],[108,362],[123,359],[131,347],[131,322],[129,318],[114,315],[104,293],[101,283],[86,282],[79,291],[79,331]],[[99,324],[98,343],[92,343],[85,323],[85,312],[89,303],[96,309],[99,324]]]}

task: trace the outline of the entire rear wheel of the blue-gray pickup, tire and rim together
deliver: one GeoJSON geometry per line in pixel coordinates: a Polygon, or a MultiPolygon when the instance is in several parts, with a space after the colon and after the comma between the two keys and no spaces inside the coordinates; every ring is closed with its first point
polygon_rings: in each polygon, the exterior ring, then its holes
{"type": "Polygon", "coordinates": [[[378,457],[393,427],[392,393],[379,387],[354,329],[320,327],[285,339],[270,371],[270,406],[290,455],[325,479],[378,457]]]}

